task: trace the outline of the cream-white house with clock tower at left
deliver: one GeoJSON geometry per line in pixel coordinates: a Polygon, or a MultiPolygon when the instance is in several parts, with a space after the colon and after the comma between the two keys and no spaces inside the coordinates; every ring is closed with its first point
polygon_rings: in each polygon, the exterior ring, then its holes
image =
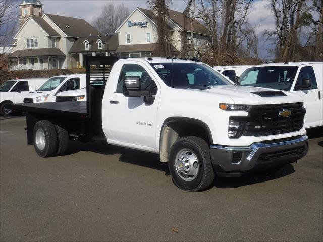
{"type": "MultiPolygon", "coordinates": [[[[64,69],[83,67],[84,55],[104,53],[109,50],[74,48],[79,46],[79,39],[91,41],[104,39],[107,44],[110,36],[102,34],[84,19],[53,14],[43,14],[43,4],[39,0],[23,0],[21,8],[22,26],[14,37],[13,50],[9,55],[9,68],[14,69],[64,69]],[[85,52],[83,50],[86,50],[85,52]],[[74,63],[73,63],[74,61],[74,63]]],[[[112,38],[112,40],[115,38],[112,38]]],[[[110,44],[110,47],[115,46],[110,44]]]]}

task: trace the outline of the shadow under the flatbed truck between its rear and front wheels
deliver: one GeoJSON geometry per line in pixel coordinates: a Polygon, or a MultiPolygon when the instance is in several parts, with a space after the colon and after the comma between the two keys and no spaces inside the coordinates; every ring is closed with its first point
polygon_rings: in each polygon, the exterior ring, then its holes
{"type": "Polygon", "coordinates": [[[70,142],[66,155],[78,153],[80,151],[95,152],[103,155],[120,154],[119,161],[133,165],[139,165],[164,171],[165,175],[170,175],[168,163],[160,162],[159,155],[114,145],[104,145],[100,141],[81,143],[70,142]]]}

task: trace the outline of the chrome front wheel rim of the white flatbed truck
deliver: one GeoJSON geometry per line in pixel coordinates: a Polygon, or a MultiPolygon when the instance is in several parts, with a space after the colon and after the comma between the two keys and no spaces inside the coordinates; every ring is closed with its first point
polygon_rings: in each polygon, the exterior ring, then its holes
{"type": "Polygon", "coordinates": [[[176,155],[175,168],[183,180],[194,180],[198,174],[199,164],[193,151],[189,149],[180,150],[176,155]]]}

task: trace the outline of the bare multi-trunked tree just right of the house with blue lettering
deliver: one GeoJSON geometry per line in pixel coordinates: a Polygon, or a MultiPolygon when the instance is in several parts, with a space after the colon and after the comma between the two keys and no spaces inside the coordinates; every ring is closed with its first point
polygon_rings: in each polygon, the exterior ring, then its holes
{"type": "Polygon", "coordinates": [[[209,30],[212,65],[233,64],[241,57],[257,57],[257,36],[247,16],[253,0],[199,0],[201,19],[209,30]]]}

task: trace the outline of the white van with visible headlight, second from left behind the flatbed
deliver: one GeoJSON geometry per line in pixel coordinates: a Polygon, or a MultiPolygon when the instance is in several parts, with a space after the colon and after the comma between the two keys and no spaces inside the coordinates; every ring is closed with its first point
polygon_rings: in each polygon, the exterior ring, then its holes
{"type": "Polygon", "coordinates": [[[55,102],[58,93],[68,90],[78,90],[84,86],[86,86],[85,74],[51,77],[37,91],[28,94],[24,98],[24,103],[55,102]]]}

